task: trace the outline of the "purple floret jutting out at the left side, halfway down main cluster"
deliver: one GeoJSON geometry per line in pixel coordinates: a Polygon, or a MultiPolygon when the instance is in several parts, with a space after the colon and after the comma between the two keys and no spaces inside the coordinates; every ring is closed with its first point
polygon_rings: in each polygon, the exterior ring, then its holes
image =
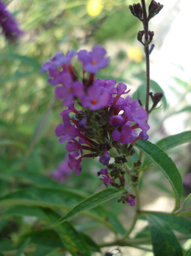
{"type": "Polygon", "coordinates": [[[63,136],[62,138],[59,139],[60,143],[65,142],[67,139],[75,138],[78,135],[75,125],[72,125],[70,123],[69,115],[64,114],[62,116],[62,119],[64,124],[59,124],[55,129],[57,137],[63,136]]]}

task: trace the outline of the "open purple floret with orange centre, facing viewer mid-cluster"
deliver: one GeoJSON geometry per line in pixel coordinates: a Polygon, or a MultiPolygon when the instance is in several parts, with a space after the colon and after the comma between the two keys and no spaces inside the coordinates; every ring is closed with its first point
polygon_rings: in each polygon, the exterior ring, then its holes
{"type": "Polygon", "coordinates": [[[98,110],[108,105],[109,95],[104,88],[92,85],[87,88],[87,95],[81,97],[82,106],[90,110],[98,110]]]}

